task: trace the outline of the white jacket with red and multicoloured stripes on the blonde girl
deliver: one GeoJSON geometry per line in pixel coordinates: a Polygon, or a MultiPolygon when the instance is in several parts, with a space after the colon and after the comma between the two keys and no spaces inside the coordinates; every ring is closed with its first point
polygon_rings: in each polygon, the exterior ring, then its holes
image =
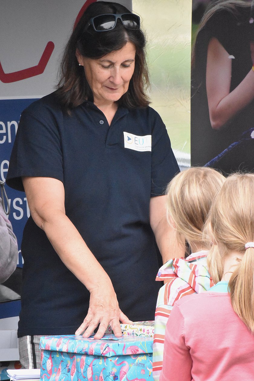
{"type": "Polygon", "coordinates": [[[187,258],[166,262],[156,280],[166,280],[158,293],[153,337],[153,379],[158,381],[162,369],[166,323],[174,303],[185,295],[209,290],[214,285],[207,269],[208,251],[193,253],[187,258]]]}

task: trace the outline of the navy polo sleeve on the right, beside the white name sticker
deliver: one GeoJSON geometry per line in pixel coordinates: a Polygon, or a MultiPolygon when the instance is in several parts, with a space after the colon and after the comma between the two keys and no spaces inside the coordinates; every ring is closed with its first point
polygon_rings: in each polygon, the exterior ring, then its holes
{"type": "Polygon", "coordinates": [[[180,171],[165,124],[157,112],[153,118],[151,197],[164,195],[168,183],[180,171]]]}

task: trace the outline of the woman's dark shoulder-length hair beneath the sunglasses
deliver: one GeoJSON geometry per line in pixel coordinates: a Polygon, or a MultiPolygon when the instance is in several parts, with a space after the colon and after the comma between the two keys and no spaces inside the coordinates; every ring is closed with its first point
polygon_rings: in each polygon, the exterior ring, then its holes
{"type": "Polygon", "coordinates": [[[108,32],[96,32],[92,26],[85,29],[88,21],[100,14],[131,13],[125,6],[112,2],[94,2],[88,6],[72,32],[65,47],[60,67],[58,96],[68,112],[86,100],[93,101],[93,93],[85,77],[83,67],[78,66],[76,49],[87,58],[97,59],[132,42],[136,47],[135,68],[128,91],[116,102],[127,108],[146,107],[149,98],[144,89],[149,86],[145,60],[145,36],[142,30],[126,29],[120,20],[108,32]]]}

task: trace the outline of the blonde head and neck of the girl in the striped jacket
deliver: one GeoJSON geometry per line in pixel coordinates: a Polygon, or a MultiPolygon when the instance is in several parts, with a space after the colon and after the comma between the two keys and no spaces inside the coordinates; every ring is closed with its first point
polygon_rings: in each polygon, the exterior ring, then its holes
{"type": "Polygon", "coordinates": [[[187,241],[192,253],[210,248],[203,240],[202,230],[224,179],[212,168],[193,167],[177,174],[168,184],[168,223],[176,229],[179,243],[187,241]]]}

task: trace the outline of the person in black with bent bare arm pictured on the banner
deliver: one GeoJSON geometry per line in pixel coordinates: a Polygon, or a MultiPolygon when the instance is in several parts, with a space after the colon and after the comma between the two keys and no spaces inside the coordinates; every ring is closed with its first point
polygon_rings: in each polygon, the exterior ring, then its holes
{"type": "Polygon", "coordinates": [[[211,2],[192,52],[191,164],[254,171],[254,1],[211,2]]]}

